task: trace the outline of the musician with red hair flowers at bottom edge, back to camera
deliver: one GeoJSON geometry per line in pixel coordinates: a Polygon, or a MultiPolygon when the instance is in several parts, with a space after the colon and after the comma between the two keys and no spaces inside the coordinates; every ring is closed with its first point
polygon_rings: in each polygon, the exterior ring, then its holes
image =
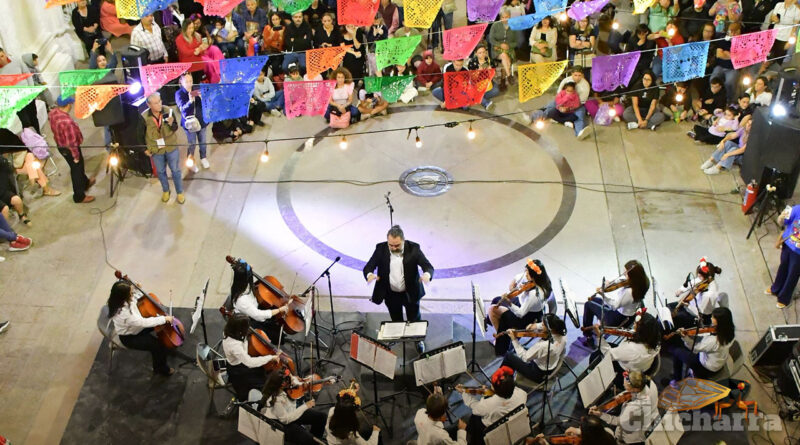
{"type": "Polygon", "coordinates": [[[514,381],[514,370],[501,366],[492,374],[492,392],[488,397],[466,392],[462,385],[456,385],[464,405],[472,410],[467,422],[467,443],[483,445],[486,427],[500,420],[514,408],[525,405],[528,395],[518,388],[514,381]]]}

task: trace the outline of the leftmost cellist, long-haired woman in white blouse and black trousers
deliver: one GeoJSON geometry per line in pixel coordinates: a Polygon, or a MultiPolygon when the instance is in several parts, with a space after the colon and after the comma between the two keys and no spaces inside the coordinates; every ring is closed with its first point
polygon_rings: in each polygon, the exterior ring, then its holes
{"type": "Polygon", "coordinates": [[[117,281],[111,286],[108,296],[108,316],[114,323],[114,332],[128,349],[149,351],[153,357],[153,372],[164,376],[175,373],[167,364],[167,348],[153,334],[153,328],[171,324],[171,315],[142,317],[137,306],[138,294],[134,297],[131,285],[117,281]]]}

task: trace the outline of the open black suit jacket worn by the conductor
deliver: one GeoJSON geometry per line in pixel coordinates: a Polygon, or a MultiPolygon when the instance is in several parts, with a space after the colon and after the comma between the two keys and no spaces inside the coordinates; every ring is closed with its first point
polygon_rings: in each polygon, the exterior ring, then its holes
{"type": "MultiPolygon", "coordinates": [[[[377,275],[380,279],[375,282],[375,289],[372,290],[372,302],[375,304],[381,304],[389,291],[390,256],[389,243],[385,241],[378,243],[372,257],[364,266],[364,279],[367,278],[367,274],[374,272],[376,267],[378,268],[377,275]]],[[[406,282],[406,292],[411,301],[419,301],[425,295],[425,288],[419,281],[419,268],[422,268],[423,272],[428,272],[433,279],[433,266],[425,258],[419,244],[406,240],[403,247],[403,277],[406,282]]]]}

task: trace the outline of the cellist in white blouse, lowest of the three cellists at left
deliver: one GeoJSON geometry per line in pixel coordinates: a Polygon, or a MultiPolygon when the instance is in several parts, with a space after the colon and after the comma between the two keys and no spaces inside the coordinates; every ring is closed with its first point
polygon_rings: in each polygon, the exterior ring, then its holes
{"type": "Polygon", "coordinates": [[[222,333],[222,350],[228,361],[228,381],[240,402],[247,400],[251,389],[260,389],[266,383],[264,365],[279,360],[277,355],[251,356],[248,353],[249,334],[250,319],[243,314],[229,317],[222,333]]]}

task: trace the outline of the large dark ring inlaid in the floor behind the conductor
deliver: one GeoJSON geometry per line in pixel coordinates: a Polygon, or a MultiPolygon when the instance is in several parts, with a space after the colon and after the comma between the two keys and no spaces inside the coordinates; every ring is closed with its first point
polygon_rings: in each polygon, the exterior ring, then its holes
{"type": "MultiPolygon", "coordinates": [[[[436,110],[440,110],[438,105],[413,105],[413,106],[392,108],[391,112],[392,114],[397,114],[397,113],[406,113],[414,111],[436,111],[436,110]]],[[[550,156],[550,158],[553,160],[553,162],[558,168],[562,184],[575,182],[575,175],[572,171],[572,167],[570,167],[567,160],[558,151],[558,148],[553,146],[552,144],[545,143],[545,141],[541,139],[540,135],[535,131],[533,131],[531,128],[522,125],[518,122],[515,122],[511,119],[508,119],[506,117],[497,117],[494,114],[488,113],[483,110],[473,110],[473,109],[453,110],[450,111],[449,113],[461,113],[479,118],[493,118],[492,121],[495,124],[505,125],[506,127],[521,133],[528,139],[537,142],[538,146],[550,156]]],[[[336,131],[336,129],[325,128],[321,132],[317,133],[315,135],[314,143],[316,144],[319,141],[323,140],[321,136],[328,135],[333,131],[336,131]]],[[[341,257],[342,265],[360,271],[364,268],[364,265],[366,264],[364,260],[352,257],[344,252],[340,252],[339,250],[334,249],[333,247],[329,246],[328,244],[324,243],[322,240],[314,236],[314,234],[312,234],[305,227],[302,221],[300,221],[300,218],[298,217],[297,213],[294,210],[294,207],[292,206],[291,187],[289,184],[294,175],[295,167],[297,166],[297,163],[300,162],[301,160],[300,154],[303,152],[304,148],[305,144],[301,144],[281,170],[276,192],[276,199],[278,201],[278,208],[280,209],[281,216],[283,217],[284,222],[292,231],[292,233],[294,233],[294,235],[299,240],[301,240],[304,244],[313,249],[315,252],[319,253],[320,255],[330,260],[334,260],[337,257],[341,257]]],[[[452,183],[452,178],[450,179],[449,183],[452,183]]],[[[425,184],[427,185],[428,183],[426,182],[425,184]]],[[[511,252],[508,252],[504,255],[495,258],[488,259],[486,261],[474,264],[468,264],[464,266],[458,266],[458,267],[436,269],[436,278],[465,277],[465,276],[485,273],[516,263],[532,255],[534,252],[536,252],[537,250],[544,247],[547,243],[549,243],[550,240],[552,240],[561,231],[561,229],[564,228],[564,226],[567,224],[567,221],[569,221],[570,217],[572,216],[572,211],[575,209],[576,198],[577,198],[577,190],[575,187],[563,186],[561,193],[561,202],[558,207],[558,210],[553,216],[553,219],[549,222],[549,224],[545,227],[545,229],[542,230],[538,235],[536,235],[532,240],[519,246],[518,248],[514,249],[511,252]]]]}

